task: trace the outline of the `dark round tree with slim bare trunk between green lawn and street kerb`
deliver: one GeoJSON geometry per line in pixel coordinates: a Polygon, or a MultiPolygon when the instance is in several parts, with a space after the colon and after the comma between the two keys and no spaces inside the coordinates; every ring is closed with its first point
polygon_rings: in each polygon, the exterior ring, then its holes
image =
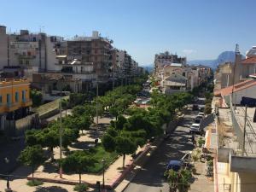
{"type": "Polygon", "coordinates": [[[123,168],[125,167],[125,154],[134,154],[137,150],[137,145],[131,138],[128,137],[116,137],[115,151],[118,154],[123,154],[123,168]]]}

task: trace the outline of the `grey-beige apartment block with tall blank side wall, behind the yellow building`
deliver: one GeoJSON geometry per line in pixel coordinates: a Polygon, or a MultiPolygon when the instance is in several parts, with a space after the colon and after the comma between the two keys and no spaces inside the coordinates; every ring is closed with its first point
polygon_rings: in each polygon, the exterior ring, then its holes
{"type": "Polygon", "coordinates": [[[0,70],[3,67],[22,67],[24,75],[32,81],[32,73],[55,71],[56,55],[63,38],[47,36],[44,32],[7,34],[0,26],[0,70]]]}

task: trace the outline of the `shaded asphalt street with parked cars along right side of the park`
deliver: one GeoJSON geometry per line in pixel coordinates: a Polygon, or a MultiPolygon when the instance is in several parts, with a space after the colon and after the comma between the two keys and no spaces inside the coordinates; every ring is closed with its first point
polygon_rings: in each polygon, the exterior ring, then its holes
{"type": "Polygon", "coordinates": [[[169,160],[180,159],[183,154],[194,148],[192,143],[189,142],[189,126],[197,113],[191,112],[185,115],[183,122],[172,133],[172,137],[168,141],[164,141],[156,149],[142,170],[132,179],[125,192],[169,191],[168,183],[163,177],[166,164],[169,160]]]}

